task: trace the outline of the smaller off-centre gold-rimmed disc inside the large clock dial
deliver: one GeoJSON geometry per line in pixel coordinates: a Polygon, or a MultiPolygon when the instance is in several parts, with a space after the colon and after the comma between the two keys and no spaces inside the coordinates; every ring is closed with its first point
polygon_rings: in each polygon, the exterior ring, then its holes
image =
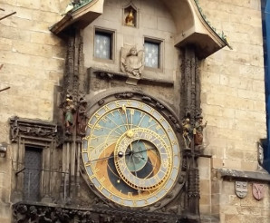
{"type": "Polygon", "coordinates": [[[116,170],[131,188],[156,189],[169,177],[171,150],[154,131],[135,128],[125,132],[114,152],[116,170]]]}

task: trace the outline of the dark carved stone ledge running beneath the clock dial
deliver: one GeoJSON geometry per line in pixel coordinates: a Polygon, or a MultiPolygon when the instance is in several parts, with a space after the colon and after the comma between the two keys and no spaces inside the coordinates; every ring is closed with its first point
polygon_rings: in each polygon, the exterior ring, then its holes
{"type": "MultiPolygon", "coordinates": [[[[198,223],[198,215],[168,214],[162,211],[149,212],[128,208],[110,208],[107,205],[94,205],[92,208],[62,206],[39,202],[21,201],[13,205],[14,222],[21,222],[22,217],[31,220],[31,214],[36,213],[35,220],[39,222],[54,222],[65,219],[65,222],[149,222],[149,223],[198,223]],[[45,218],[44,218],[45,217],[45,218]],[[76,221],[77,219],[77,221],[76,221]]],[[[28,222],[28,221],[27,221],[28,222]]],[[[63,221],[61,221],[63,222],[63,221]]]]}

